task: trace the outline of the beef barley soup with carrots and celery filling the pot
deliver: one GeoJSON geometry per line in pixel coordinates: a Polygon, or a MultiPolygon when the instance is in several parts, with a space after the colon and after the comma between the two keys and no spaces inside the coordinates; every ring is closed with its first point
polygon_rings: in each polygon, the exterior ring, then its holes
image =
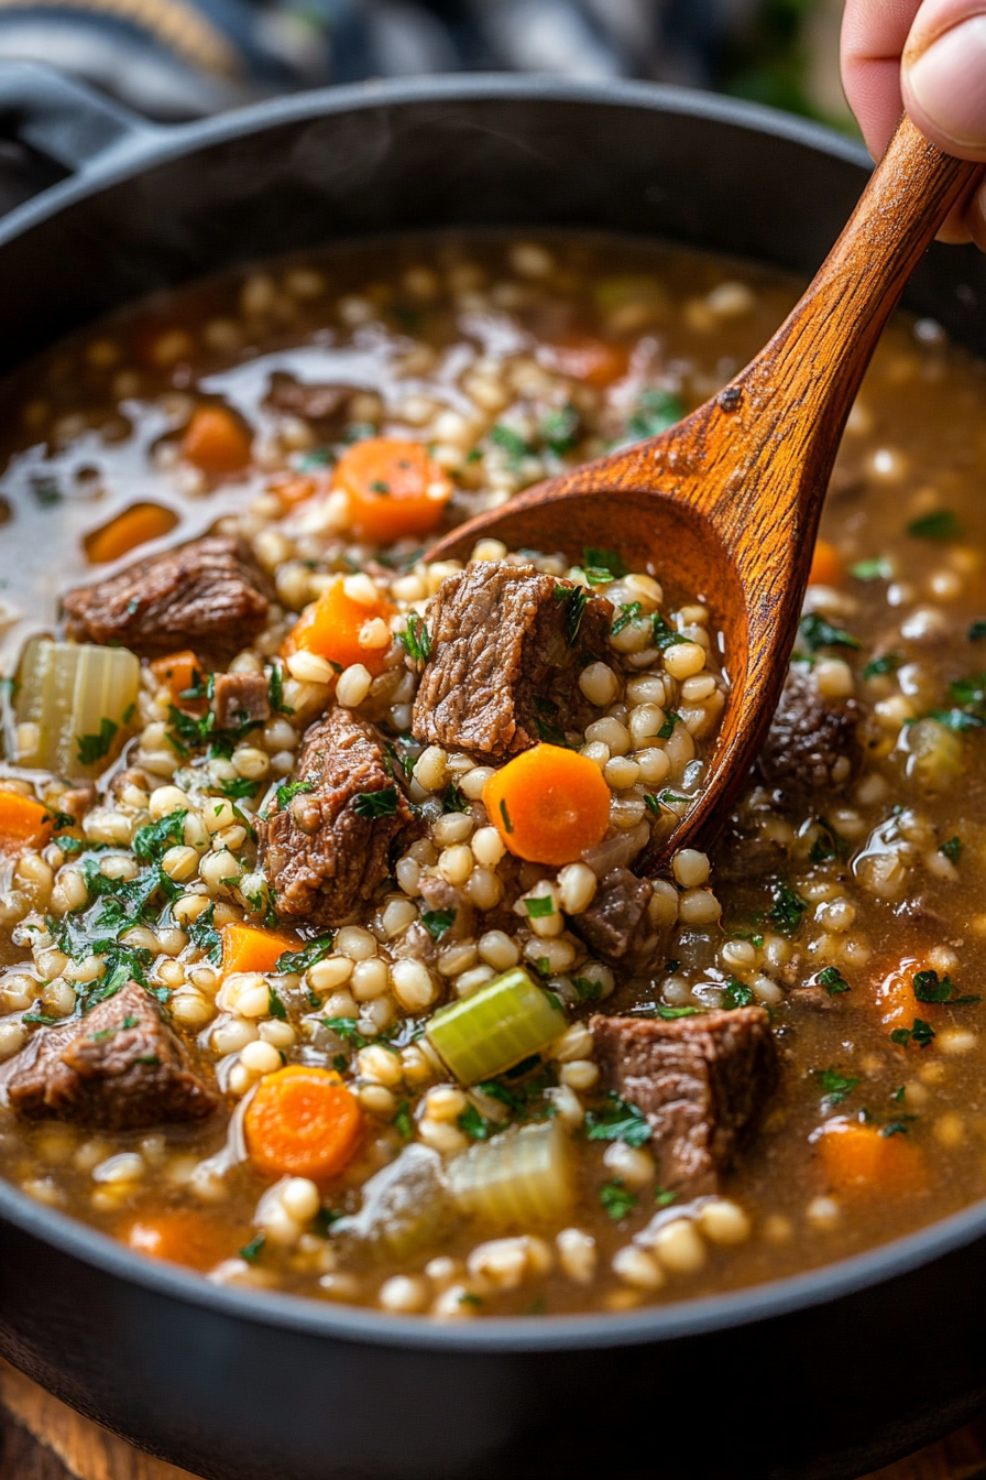
{"type": "Polygon", "coordinates": [[[622,1310],[986,1193],[986,379],[884,336],[783,700],[674,551],[433,537],[705,400],[776,275],[339,249],[0,392],[0,1171],[220,1283],[622,1310]]]}

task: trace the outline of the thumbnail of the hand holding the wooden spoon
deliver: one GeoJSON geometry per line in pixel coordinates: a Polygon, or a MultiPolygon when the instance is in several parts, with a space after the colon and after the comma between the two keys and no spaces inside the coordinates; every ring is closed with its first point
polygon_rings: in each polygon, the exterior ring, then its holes
{"type": "Polygon", "coordinates": [[[986,15],[946,31],[911,64],[906,89],[925,123],[968,149],[986,148],[986,15]]]}

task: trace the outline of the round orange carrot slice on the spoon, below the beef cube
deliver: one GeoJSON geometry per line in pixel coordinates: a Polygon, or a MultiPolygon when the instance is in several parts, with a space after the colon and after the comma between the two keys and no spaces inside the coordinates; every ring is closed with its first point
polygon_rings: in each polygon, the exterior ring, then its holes
{"type": "Polygon", "coordinates": [[[609,827],[609,787],[588,756],[535,744],[483,787],[483,805],[510,852],[529,863],[574,863],[609,827]]]}

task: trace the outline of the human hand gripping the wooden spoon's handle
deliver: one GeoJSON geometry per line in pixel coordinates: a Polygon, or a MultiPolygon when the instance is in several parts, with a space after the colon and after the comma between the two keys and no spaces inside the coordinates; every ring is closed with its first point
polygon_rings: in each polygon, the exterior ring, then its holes
{"type": "MultiPolygon", "coordinates": [[[[874,158],[906,110],[948,154],[986,161],[986,0],[847,0],[843,86],[874,158]]],[[[986,182],[939,235],[986,252],[986,182]]]]}

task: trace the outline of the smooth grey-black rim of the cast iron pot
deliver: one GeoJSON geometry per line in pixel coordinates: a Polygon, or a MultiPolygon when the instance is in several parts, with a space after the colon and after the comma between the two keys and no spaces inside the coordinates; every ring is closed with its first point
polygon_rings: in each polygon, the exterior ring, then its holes
{"type": "MultiPolygon", "coordinates": [[[[25,201],[0,222],[0,247],[56,216],[75,201],[126,182],[149,167],[271,127],[333,114],[429,102],[571,102],[645,108],[693,117],[781,138],[869,170],[865,148],[832,130],[760,104],[647,81],[577,81],[550,75],[497,73],[355,83],[238,108],[180,126],[146,124],[133,130],[78,173],[25,201]]],[[[148,1292],[204,1307],[225,1317],[278,1326],[315,1338],[430,1351],[553,1351],[643,1345],[783,1317],[884,1283],[986,1237],[986,1199],[927,1228],[806,1274],[619,1314],[492,1316],[461,1325],[427,1317],[389,1316],[359,1305],[334,1305],[309,1296],[214,1285],[180,1265],[140,1257],[108,1234],[67,1214],[44,1208],[0,1181],[0,1218],[105,1274],[148,1292]]]]}

